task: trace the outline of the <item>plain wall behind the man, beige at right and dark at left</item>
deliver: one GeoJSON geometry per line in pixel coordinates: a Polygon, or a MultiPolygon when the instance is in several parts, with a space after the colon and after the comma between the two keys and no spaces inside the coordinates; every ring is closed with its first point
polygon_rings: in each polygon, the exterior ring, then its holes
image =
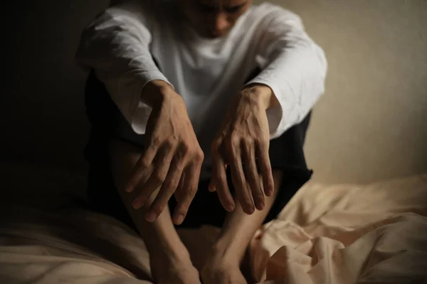
{"type": "MultiPolygon", "coordinates": [[[[274,2],[302,16],[330,63],[307,142],[315,178],[366,182],[427,171],[427,1],[274,2]]],[[[107,0],[27,3],[1,8],[9,28],[0,156],[85,168],[85,75],[73,54],[107,0]]]]}

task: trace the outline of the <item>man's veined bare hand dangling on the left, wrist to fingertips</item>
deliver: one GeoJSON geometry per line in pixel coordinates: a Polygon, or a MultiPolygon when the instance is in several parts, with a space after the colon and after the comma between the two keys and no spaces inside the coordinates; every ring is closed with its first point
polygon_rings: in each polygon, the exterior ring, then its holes
{"type": "Polygon", "coordinates": [[[142,101],[152,107],[145,131],[144,154],[135,166],[126,191],[140,190],[132,202],[139,209],[159,187],[159,193],[147,210],[153,222],[175,194],[178,202],[173,220],[184,221],[199,184],[201,151],[184,100],[166,82],[154,80],[142,91],[142,101]]]}

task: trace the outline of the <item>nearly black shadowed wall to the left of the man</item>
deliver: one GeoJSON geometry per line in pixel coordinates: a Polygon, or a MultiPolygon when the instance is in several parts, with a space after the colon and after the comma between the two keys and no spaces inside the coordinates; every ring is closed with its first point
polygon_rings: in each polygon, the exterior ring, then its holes
{"type": "Polygon", "coordinates": [[[106,0],[1,4],[1,160],[84,168],[85,73],[74,61],[80,32],[106,0]]]}

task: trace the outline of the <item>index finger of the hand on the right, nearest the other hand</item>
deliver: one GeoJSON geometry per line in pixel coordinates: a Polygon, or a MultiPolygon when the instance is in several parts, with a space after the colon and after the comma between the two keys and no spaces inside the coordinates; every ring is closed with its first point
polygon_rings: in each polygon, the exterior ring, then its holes
{"type": "Polygon", "coordinates": [[[221,202],[223,208],[228,212],[232,212],[236,207],[236,204],[234,204],[233,196],[231,195],[230,189],[228,188],[226,164],[224,163],[222,156],[219,154],[218,145],[219,143],[214,145],[211,151],[212,177],[209,188],[216,190],[219,201],[221,202]]]}

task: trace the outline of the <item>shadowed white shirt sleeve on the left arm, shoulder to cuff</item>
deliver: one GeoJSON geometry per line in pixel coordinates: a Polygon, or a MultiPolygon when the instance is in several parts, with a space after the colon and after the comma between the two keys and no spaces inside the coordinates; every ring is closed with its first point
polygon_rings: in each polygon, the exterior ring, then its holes
{"type": "Polygon", "coordinates": [[[142,89],[152,80],[169,81],[149,51],[153,23],[144,1],[117,2],[85,28],[76,60],[95,70],[132,129],[143,134],[151,108],[140,100],[142,89]]]}

